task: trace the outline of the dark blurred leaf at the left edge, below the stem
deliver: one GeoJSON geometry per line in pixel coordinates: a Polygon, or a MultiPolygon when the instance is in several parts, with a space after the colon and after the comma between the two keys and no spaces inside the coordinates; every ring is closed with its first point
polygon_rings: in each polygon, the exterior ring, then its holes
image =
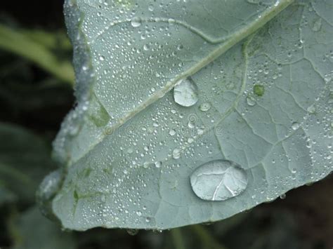
{"type": "Polygon", "coordinates": [[[33,203],[39,182],[55,168],[50,148],[37,135],[12,123],[0,122],[0,141],[0,188],[5,191],[0,191],[1,198],[11,193],[22,203],[33,203]]]}

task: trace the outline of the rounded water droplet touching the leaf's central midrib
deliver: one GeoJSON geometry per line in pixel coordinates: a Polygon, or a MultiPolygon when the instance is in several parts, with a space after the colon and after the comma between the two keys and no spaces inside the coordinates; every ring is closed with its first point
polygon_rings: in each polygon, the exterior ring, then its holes
{"type": "Polygon", "coordinates": [[[183,79],[174,87],[174,100],[183,107],[191,107],[198,100],[197,86],[191,79],[183,79]]]}

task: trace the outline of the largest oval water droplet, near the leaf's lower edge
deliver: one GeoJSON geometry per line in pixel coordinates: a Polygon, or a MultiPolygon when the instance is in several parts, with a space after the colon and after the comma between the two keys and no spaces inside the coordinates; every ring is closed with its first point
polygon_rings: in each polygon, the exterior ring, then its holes
{"type": "Polygon", "coordinates": [[[228,160],[209,161],[190,176],[195,194],[206,201],[224,201],[247,188],[245,170],[228,160]]]}

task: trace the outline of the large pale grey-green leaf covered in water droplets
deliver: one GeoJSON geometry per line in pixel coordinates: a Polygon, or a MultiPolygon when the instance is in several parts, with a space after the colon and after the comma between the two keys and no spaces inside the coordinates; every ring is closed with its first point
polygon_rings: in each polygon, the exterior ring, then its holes
{"type": "Polygon", "coordinates": [[[328,175],[332,4],[66,1],[63,227],[214,222],[328,175]]]}

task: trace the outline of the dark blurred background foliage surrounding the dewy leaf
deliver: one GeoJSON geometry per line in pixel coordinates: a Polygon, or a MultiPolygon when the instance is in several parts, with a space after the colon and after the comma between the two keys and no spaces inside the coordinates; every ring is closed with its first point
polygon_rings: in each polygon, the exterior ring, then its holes
{"type": "MultiPolygon", "coordinates": [[[[97,0],[96,0],[97,1],[97,0]]],[[[62,0],[0,4],[0,248],[333,248],[333,178],[214,224],[171,231],[61,231],[34,201],[74,103],[62,0]],[[136,235],[134,235],[136,234],[136,235]]]]}

